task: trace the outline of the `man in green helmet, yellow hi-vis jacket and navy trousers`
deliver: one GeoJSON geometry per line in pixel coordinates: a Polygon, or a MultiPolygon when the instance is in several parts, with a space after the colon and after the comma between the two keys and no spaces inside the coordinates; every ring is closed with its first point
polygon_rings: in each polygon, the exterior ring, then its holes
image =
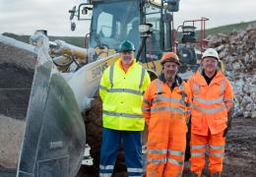
{"type": "Polygon", "coordinates": [[[143,93],[150,84],[147,71],[134,58],[129,40],[119,46],[120,59],[101,78],[99,95],[103,104],[103,130],[99,176],[111,176],[119,145],[123,142],[129,176],[142,176],[143,93]]]}

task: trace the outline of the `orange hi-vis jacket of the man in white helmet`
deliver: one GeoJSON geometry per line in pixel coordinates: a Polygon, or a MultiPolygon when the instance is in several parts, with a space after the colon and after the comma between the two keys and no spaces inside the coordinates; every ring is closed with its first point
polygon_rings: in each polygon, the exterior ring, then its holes
{"type": "Polygon", "coordinates": [[[188,80],[192,93],[191,133],[207,136],[226,128],[227,112],[233,106],[233,91],[222,71],[208,86],[201,71],[188,80]]]}

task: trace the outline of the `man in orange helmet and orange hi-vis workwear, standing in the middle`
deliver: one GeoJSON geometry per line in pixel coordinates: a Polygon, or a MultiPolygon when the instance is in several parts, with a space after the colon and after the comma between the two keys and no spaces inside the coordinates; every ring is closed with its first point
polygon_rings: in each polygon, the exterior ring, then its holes
{"type": "Polygon", "coordinates": [[[177,55],[162,55],[162,74],[144,94],[143,115],[148,125],[147,177],[180,177],[183,171],[191,95],[176,74],[177,55]]]}

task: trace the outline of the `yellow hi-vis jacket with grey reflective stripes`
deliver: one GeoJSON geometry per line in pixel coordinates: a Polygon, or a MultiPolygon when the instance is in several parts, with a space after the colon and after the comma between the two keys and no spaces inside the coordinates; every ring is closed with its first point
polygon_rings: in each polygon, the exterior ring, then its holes
{"type": "Polygon", "coordinates": [[[135,61],[125,73],[119,59],[101,78],[99,95],[103,102],[103,127],[114,130],[142,131],[145,121],[141,104],[150,84],[148,72],[135,61]]]}

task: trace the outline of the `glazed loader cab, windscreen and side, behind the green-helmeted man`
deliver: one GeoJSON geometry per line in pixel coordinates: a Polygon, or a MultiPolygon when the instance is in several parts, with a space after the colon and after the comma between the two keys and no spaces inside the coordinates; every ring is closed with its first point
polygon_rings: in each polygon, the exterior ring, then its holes
{"type": "MultiPolygon", "coordinates": [[[[158,61],[163,51],[171,50],[171,20],[162,20],[166,12],[162,1],[100,0],[92,3],[90,47],[117,51],[120,42],[128,39],[138,52],[142,39],[139,25],[151,24],[152,35],[147,38],[139,60],[142,63],[158,61]]],[[[156,66],[150,68],[156,70],[156,66]]]]}

